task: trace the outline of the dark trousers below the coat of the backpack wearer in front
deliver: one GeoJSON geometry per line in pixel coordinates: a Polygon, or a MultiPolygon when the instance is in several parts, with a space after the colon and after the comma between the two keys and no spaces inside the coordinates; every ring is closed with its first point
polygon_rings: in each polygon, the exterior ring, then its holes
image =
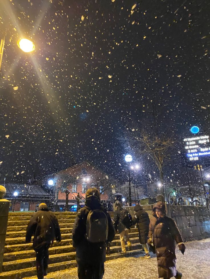
{"type": "Polygon", "coordinates": [[[79,279],[102,279],[104,275],[104,263],[77,264],[77,274],[79,279]]]}

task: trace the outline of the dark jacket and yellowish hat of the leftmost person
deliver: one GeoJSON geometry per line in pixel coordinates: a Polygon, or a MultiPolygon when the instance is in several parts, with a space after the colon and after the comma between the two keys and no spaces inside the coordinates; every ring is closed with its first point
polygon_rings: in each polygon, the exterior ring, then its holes
{"type": "Polygon", "coordinates": [[[51,212],[47,205],[42,205],[35,212],[26,229],[26,242],[33,238],[33,249],[40,249],[41,247],[52,244],[54,238],[56,241],[61,241],[60,227],[58,220],[53,212],[51,212]]]}

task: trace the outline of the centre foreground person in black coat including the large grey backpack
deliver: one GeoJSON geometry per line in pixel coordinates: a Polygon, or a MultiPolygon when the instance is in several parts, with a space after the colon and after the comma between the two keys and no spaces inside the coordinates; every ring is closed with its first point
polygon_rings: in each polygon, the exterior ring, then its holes
{"type": "Polygon", "coordinates": [[[77,212],[72,229],[79,279],[102,279],[106,245],[114,236],[114,226],[107,209],[100,202],[100,192],[96,188],[88,189],[85,206],[77,212]]]}

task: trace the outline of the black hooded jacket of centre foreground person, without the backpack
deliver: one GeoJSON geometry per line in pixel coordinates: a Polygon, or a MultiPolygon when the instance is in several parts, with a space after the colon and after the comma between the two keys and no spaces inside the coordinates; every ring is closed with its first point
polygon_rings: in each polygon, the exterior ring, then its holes
{"type": "Polygon", "coordinates": [[[89,211],[94,209],[102,210],[108,220],[108,242],[114,239],[115,231],[111,217],[106,208],[104,208],[96,196],[90,196],[85,200],[85,206],[80,208],[77,213],[74,226],[72,229],[73,247],[76,247],[76,261],[79,264],[106,261],[106,243],[90,243],[85,237],[86,222],[89,211]]]}

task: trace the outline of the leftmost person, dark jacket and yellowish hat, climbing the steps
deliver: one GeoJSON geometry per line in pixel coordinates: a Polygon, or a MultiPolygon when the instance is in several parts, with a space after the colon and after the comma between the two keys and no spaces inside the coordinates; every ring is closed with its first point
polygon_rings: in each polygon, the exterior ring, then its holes
{"type": "Polygon", "coordinates": [[[56,241],[61,241],[58,220],[45,203],[41,203],[37,212],[33,214],[26,229],[25,240],[31,242],[33,238],[33,249],[36,252],[37,278],[43,279],[47,275],[49,260],[48,249],[56,241]]]}

